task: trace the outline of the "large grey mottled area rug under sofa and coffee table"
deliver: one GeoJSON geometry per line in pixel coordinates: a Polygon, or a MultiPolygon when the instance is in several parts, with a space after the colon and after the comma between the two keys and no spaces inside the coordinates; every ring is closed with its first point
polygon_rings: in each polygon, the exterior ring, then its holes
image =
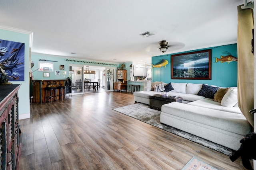
{"type": "Polygon", "coordinates": [[[123,113],[130,117],[133,117],[140,121],[144,121],[145,123],[148,123],[150,125],[158,127],[160,129],[163,129],[165,131],[168,131],[170,133],[173,133],[175,135],[178,135],[180,137],[183,137],[185,139],[188,139],[190,141],[193,141],[193,142],[203,145],[205,147],[208,147],[210,149],[216,150],[216,151],[226,154],[228,156],[232,155],[232,150],[227,147],[218,145],[218,144],[208,141],[206,139],[200,138],[198,136],[192,135],[190,133],[187,133],[187,132],[181,131],[179,129],[176,129],[174,127],[160,123],[161,111],[150,109],[149,106],[146,104],[137,103],[137,104],[132,104],[129,106],[118,107],[113,110],[116,110],[120,113],[123,113]]]}

